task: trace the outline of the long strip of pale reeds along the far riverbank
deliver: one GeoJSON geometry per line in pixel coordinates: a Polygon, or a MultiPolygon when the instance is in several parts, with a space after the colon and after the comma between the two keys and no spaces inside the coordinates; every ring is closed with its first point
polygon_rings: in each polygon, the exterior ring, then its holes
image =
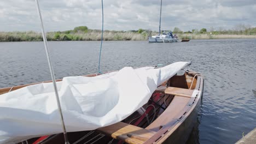
{"type": "MultiPolygon", "coordinates": [[[[158,32],[152,32],[158,35],[158,32]]],[[[177,34],[179,39],[242,39],[256,38],[256,35],[245,34],[177,34]]],[[[87,29],[86,31],[48,32],[49,41],[90,41],[101,40],[101,31],[87,29]]],[[[104,31],[104,40],[147,40],[148,31],[104,31]]],[[[43,41],[39,32],[0,32],[0,41],[43,41]]]]}

